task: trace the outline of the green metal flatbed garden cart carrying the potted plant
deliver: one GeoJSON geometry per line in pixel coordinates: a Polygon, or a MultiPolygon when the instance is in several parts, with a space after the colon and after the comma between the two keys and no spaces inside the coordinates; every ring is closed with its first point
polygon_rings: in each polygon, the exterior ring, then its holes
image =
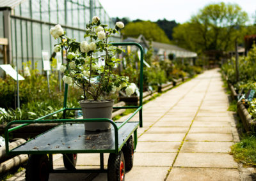
{"type": "Polygon", "coordinates": [[[124,180],[125,171],[133,166],[133,154],[137,145],[137,129],[142,127],[142,88],[143,88],[143,48],[138,43],[111,43],[114,46],[136,46],[140,48],[140,104],[138,106],[113,107],[114,109],[136,109],[124,122],[114,122],[110,119],[66,119],[66,112],[81,110],[67,108],[68,85],[65,84],[63,108],[40,117],[36,120],[14,120],[5,129],[6,153],[28,154],[26,180],[48,180],[49,173],[108,173],[108,180],[124,180]],[[47,119],[47,117],[62,112],[63,119],[47,119]],[[140,114],[137,122],[129,120],[140,114]],[[84,122],[110,122],[108,131],[85,131],[84,122]],[[58,126],[28,140],[19,147],[9,150],[9,134],[29,124],[60,123],[58,126]],[[12,124],[19,126],[12,127],[12,124]],[[133,136],[132,136],[133,134],[133,136]],[[77,154],[100,154],[100,168],[76,169],[77,154]],[[104,153],[109,153],[108,169],[104,168],[104,153]],[[63,154],[66,170],[54,170],[52,154],[63,154]]]}

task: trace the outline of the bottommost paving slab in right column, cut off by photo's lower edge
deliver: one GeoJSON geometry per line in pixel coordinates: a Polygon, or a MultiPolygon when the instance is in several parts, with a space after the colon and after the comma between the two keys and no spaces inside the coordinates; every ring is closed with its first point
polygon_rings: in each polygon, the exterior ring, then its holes
{"type": "Polygon", "coordinates": [[[166,181],[238,181],[236,169],[223,168],[173,168],[166,181]]]}

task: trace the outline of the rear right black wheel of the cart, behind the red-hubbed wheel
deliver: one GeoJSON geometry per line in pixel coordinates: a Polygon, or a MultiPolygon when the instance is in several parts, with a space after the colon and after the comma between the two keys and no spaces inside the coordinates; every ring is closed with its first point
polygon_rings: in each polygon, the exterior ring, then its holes
{"type": "Polygon", "coordinates": [[[133,155],[134,155],[134,144],[132,136],[126,141],[124,147],[122,148],[124,152],[125,159],[125,171],[129,171],[133,166],[133,155]]]}

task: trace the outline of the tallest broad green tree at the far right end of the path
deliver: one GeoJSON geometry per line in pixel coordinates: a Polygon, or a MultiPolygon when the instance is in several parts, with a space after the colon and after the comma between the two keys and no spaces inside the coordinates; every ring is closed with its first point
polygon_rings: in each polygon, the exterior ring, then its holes
{"type": "Polygon", "coordinates": [[[209,4],[189,22],[175,27],[173,40],[199,54],[205,50],[234,50],[234,41],[243,38],[247,21],[247,13],[237,4],[209,4]]]}

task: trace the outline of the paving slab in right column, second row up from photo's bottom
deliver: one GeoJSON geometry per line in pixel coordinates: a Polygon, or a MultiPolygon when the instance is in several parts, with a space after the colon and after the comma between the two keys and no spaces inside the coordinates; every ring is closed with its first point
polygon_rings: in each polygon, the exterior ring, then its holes
{"type": "Polygon", "coordinates": [[[230,154],[180,153],[174,166],[203,168],[237,168],[230,154]]]}

